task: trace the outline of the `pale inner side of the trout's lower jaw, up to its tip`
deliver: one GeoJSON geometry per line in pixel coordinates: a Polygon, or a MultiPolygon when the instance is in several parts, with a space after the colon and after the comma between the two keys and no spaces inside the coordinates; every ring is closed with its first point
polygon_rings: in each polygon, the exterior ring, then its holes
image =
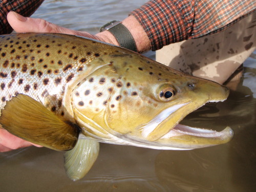
{"type": "Polygon", "coordinates": [[[196,137],[204,137],[204,138],[229,138],[233,136],[233,131],[230,127],[226,127],[223,131],[217,132],[214,130],[206,130],[200,129],[196,127],[190,127],[182,124],[178,124],[174,127],[174,129],[170,130],[167,134],[162,136],[160,139],[167,139],[177,136],[196,136],[196,137]]]}

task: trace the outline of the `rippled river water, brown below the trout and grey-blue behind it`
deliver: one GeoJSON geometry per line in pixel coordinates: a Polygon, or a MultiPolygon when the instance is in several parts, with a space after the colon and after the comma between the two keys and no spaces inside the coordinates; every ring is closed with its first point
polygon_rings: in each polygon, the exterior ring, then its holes
{"type": "MultiPolygon", "coordinates": [[[[122,20],[146,1],[45,1],[32,15],[70,29],[97,33],[122,20]]],[[[154,53],[147,53],[154,58],[154,53]]],[[[183,122],[234,130],[227,144],[192,151],[162,151],[101,144],[97,161],[73,182],[63,168],[63,153],[28,147],[0,154],[0,191],[256,191],[256,53],[244,63],[235,91],[221,103],[207,104],[183,122]]]]}

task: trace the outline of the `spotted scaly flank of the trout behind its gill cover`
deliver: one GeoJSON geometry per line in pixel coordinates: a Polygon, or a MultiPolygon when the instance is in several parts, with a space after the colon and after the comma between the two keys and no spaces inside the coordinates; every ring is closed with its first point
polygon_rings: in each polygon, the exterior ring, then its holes
{"type": "Polygon", "coordinates": [[[17,93],[24,93],[39,100],[51,111],[59,112],[66,88],[72,84],[74,77],[84,70],[89,71],[88,66],[96,57],[93,51],[89,53],[88,50],[86,57],[81,56],[85,45],[78,40],[65,40],[65,35],[56,38],[45,34],[38,38],[37,35],[14,34],[0,38],[1,109],[6,100],[17,93]]]}

